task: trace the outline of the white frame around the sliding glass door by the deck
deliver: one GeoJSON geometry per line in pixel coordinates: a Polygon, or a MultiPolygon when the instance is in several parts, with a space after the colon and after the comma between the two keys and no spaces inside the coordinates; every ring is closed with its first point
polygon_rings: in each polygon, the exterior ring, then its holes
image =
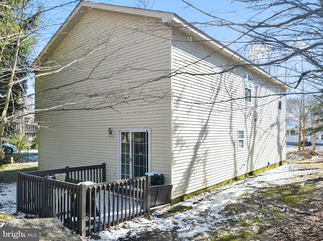
{"type": "Polygon", "coordinates": [[[148,172],[151,169],[151,136],[150,129],[118,129],[118,180],[121,179],[121,132],[147,132],[148,134],[148,172]]]}

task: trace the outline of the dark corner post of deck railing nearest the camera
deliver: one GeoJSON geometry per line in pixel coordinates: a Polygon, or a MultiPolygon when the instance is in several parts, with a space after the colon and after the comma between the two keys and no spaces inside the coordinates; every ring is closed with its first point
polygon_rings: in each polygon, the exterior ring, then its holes
{"type": "Polygon", "coordinates": [[[81,235],[82,239],[85,239],[86,236],[86,185],[84,183],[80,184],[79,191],[78,191],[78,208],[77,208],[77,226],[78,232],[81,235]]]}

